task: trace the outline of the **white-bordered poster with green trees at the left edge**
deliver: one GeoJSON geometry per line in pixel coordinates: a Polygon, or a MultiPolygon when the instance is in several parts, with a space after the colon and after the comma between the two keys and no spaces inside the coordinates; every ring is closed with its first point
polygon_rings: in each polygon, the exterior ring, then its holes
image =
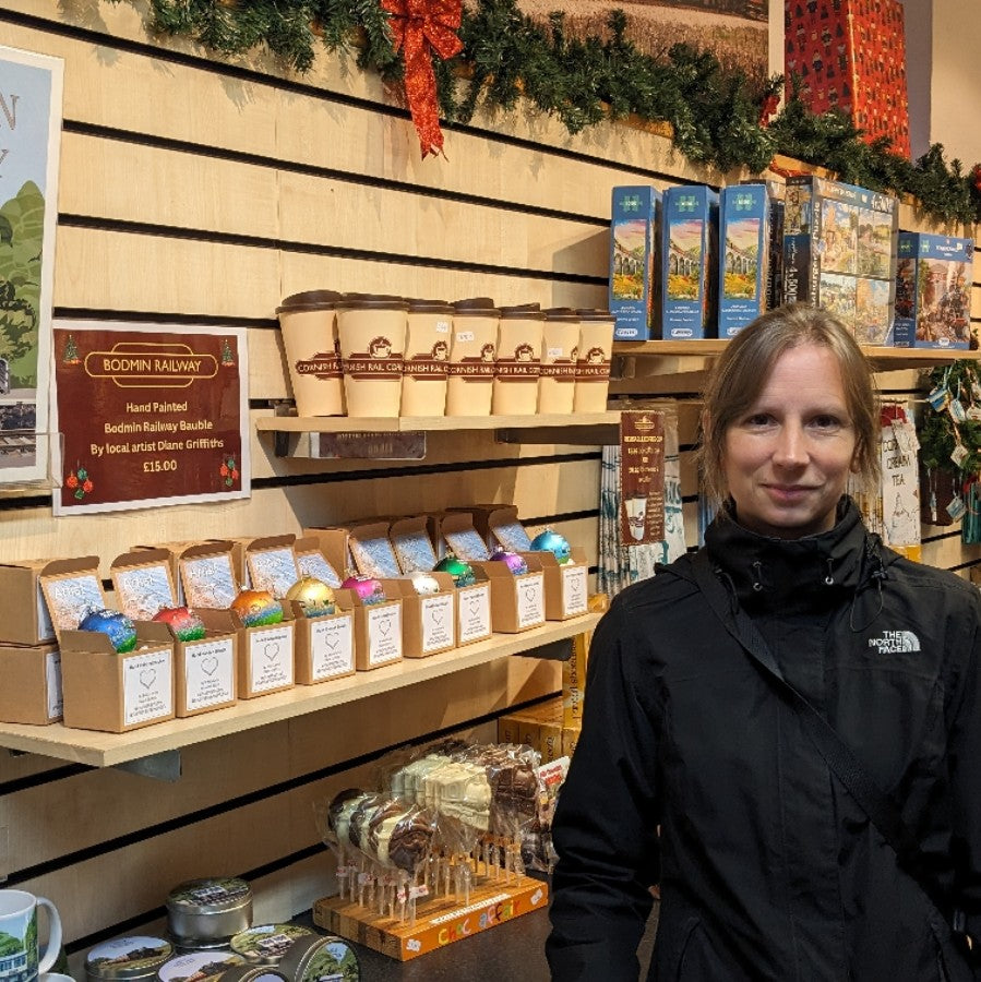
{"type": "Polygon", "coordinates": [[[0,487],[49,477],[62,74],[0,46],[0,487]]]}

